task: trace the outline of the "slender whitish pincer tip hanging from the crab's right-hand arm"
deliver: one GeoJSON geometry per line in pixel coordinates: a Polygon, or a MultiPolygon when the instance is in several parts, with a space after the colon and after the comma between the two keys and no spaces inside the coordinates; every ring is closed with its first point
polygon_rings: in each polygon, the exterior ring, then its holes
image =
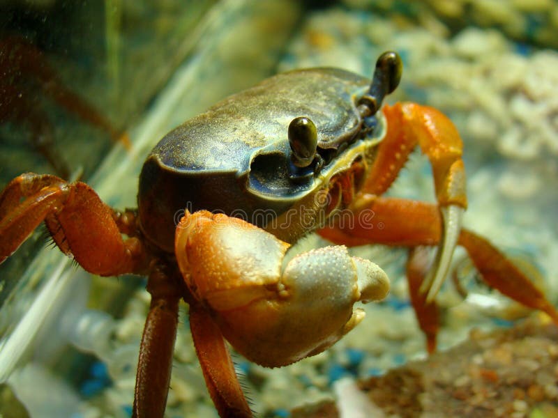
{"type": "Polygon", "coordinates": [[[464,208],[456,205],[446,206],[440,210],[443,220],[442,238],[438,245],[434,264],[421,285],[421,293],[428,292],[426,302],[434,300],[444,283],[444,279],[446,279],[453,250],[457,245],[461,231],[463,212],[465,212],[464,208]]]}

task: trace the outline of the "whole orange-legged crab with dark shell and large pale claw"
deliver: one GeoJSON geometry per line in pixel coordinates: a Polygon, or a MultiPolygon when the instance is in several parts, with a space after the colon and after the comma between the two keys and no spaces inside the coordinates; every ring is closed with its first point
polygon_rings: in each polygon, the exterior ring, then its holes
{"type": "Polygon", "coordinates": [[[0,262],[45,222],[86,271],[148,277],[134,417],[163,416],[181,300],[218,413],[251,416],[225,340],[269,367],[329,348],[363,320],[356,302],[389,292],[379,266],[349,254],[355,245],[409,248],[409,291],[430,352],[456,245],[490,286],[558,324],[525,274],[462,228],[465,169],[451,121],[410,102],[382,106],[401,72],[398,54],[386,52],[371,84],[313,68],[226,98],[153,148],[137,210],[110,208],[80,181],[23,174],[0,195],[0,262]],[[432,165],[436,204],[383,196],[416,146],[432,165]],[[335,245],[296,254],[294,243],[314,231],[335,245]],[[437,247],[431,266],[425,246],[437,247]]]}

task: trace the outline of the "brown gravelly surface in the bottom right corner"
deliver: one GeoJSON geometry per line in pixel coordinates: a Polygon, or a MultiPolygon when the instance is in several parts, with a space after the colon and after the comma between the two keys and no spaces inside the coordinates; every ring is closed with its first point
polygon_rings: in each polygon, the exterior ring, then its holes
{"type": "MultiPolygon", "coordinates": [[[[355,386],[356,387],[356,386],[355,386]]],[[[358,384],[374,417],[558,417],[558,328],[534,316],[358,384]]],[[[338,417],[347,400],[293,417],[338,417]]],[[[362,405],[362,404],[361,404],[362,405]]],[[[354,415],[357,416],[357,415],[354,415]]]]}

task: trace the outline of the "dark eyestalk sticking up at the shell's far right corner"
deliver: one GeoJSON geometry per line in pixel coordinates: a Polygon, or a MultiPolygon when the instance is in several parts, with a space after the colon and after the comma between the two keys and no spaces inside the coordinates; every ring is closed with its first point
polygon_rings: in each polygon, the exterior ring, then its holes
{"type": "Polygon", "coordinates": [[[397,52],[384,52],[379,56],[368,93],[359,100],[359,108],[363,110],[363,116],[370,116],[378,111],[384,97],[399,85],[402,70],[403,64],[397,52]]]}

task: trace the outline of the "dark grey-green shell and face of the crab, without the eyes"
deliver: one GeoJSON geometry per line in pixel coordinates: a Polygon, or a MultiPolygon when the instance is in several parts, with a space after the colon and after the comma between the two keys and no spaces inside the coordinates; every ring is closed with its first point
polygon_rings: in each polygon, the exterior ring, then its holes
{"type": "Polygon", "coordinates": [[[172,252],[177,214],[184,208],[241,217],[291,243],[316,229],[324,219],[315,216],[315,201],[329,179],[356,158],[370,163],[384,135],[381,112],[363,121],[356,109],[369,83],[333,68],[285,72],[169,132],[140,176],[138,204],[146,238],[172,252]],[[315,123],[318,153],[333,157],[318,173],[293,167],[289,160],[287,127],[298,116],[315,123]],[[372,134],[355,140],[370,126],[375,126],[372,134]],[[271,222],[301,206],[304,219],[289,219],[287,228],[271,222]]]}

